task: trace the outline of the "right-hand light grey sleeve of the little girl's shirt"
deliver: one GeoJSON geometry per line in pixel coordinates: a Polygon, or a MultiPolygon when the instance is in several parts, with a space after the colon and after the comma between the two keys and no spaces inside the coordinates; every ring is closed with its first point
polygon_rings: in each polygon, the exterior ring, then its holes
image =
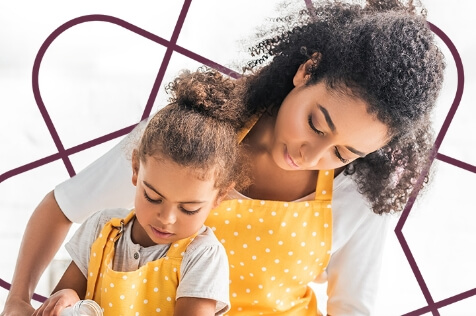
{"type": "Polygon", "coordinates": [[[182,277],[176,298],[198,297],[215,300],[215,315],[222,315],[230,309],[230,273],[225,249],[215,236],[212,236],[213,239],[205,236],[205,242],[198,242],[196,245],[192,243],[187,249],[182,261],[182,277]]]}

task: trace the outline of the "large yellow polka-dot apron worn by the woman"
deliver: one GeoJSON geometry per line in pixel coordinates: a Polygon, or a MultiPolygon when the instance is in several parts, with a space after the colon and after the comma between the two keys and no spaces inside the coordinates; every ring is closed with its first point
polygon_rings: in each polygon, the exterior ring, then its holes
{"type": "Polygon", "coordinates": [[[332,242],[334,171],[320,171],[305,202],[227,200],[210,226],[230,264],[227,315],[321,315],[308,286],[324,271],[332,242]]]}

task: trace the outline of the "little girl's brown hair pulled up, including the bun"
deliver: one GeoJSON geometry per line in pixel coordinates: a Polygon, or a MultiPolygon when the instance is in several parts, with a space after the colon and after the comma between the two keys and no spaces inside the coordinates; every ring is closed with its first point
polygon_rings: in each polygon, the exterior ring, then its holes
{"type": "Polygon", "coordinates": [[[247,116],[234,96],[235,80],[205,67],[183,71],[166,87],[171,95],[145,128],[136,151],[168,158],[195,169],[199,178],[213,171],[215,187],[224,192],[232,183],[237,189],[249,184],[243,151],[236,133],[247,116]]]}

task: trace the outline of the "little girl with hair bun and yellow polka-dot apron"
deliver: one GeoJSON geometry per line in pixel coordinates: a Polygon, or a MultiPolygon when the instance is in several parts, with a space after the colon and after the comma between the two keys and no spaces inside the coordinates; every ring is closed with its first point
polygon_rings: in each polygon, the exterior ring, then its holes
{"type": "Polygon", "coordinates": [[[132,155],[134,209],[90,217],[66,245],[73,261],[34,315],[94,299],[104,315],[220,315],[229,307],[223,246],[204,226],[235,181],[238,144],[231,82],[184,73],[172,103],[149,122],[132,155]]]}

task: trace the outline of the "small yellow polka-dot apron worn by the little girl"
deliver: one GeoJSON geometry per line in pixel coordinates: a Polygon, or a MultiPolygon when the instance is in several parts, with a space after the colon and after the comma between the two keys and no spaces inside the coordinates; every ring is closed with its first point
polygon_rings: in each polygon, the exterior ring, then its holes
{"type": "Polygon", "coordinates": [[[173,315],[182,256],[196,235],[173,243],[165,257],[135,271],[114,271],[114,243],[133,217],[134,211],[111,219],[91,246],[86,299],[95,300],[104,316],[173,315]]]}

